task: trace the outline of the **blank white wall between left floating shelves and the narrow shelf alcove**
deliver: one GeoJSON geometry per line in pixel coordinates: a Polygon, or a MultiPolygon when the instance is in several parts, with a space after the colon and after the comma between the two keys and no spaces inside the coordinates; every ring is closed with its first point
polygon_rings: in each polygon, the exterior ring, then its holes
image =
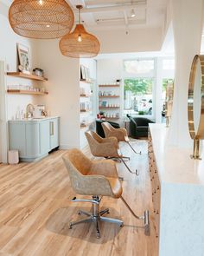
{"type": "Polygon", "coordinates": [[[61,117],[61,148],[80,147],[80,60],[61,55],[59,40],[37,41],[38,64],[48,76],[43,103],[61,117]]]}

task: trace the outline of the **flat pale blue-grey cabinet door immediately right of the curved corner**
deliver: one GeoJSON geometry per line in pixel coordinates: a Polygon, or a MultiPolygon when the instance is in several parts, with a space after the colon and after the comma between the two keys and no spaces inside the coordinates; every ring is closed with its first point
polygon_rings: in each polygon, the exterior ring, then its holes
{"type": "Polygon", "coordinates": [[[40,150],[41,154],[47,154],[50,151],[49,120],[40,123],[40,150]]]}

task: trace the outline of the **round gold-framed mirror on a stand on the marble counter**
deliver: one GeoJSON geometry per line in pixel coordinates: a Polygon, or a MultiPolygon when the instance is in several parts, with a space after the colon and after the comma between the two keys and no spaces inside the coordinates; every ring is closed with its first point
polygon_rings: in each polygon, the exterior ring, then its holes
{"type": "Polygon", "coordinates": [[[199,55],[194,56],[189,77],[188,128],[194,140],[192,157],[199,159],[199,144],[204,139],[204,56],[199,55]]]}

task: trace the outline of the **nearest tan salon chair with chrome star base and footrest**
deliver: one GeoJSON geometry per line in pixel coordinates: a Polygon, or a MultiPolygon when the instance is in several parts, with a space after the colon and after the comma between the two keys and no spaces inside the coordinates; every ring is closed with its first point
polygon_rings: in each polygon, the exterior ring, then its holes
{"type": "Polygon", "coordinates": [[[73,148],[68,150],[63,157],[63,161],[67,167],[71,185],[76,194],[92,195],[92,199],[77,200],[73,198],[73,202],[90,202],[92,203],[92,213],[80,211],[80,214],[87,216],[86,219],[69,223],[69,228],[84,222],[94,222],[97,231],[97,238],[100,237],[99,223],[100,221],[113,222],[119,226],[124,226],[122,220],[106,218],[103,215],[109,213],[109,209],[99,210],[99,203],[102,196],[111,196],[112,198],[121,198],[124,204],[131,211],[134,217],[144,221],[144,231],[150,233],[149,212],[145,211],[142,217],[138,217],[131,207],[122,197],[123,189],[118,180],[118,174],[115,162],[112,160],[90,161],[79,149],[73,148]]]}

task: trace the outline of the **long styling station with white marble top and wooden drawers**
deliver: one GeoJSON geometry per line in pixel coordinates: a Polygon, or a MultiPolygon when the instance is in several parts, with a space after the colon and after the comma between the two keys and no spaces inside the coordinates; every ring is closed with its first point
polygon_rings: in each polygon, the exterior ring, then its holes
{"type": "Polygon", "coordinates": [[[168,130],[150,124],[152,201],[160,256],[204,255],[204,155],[169,146],[168,130]]]}

